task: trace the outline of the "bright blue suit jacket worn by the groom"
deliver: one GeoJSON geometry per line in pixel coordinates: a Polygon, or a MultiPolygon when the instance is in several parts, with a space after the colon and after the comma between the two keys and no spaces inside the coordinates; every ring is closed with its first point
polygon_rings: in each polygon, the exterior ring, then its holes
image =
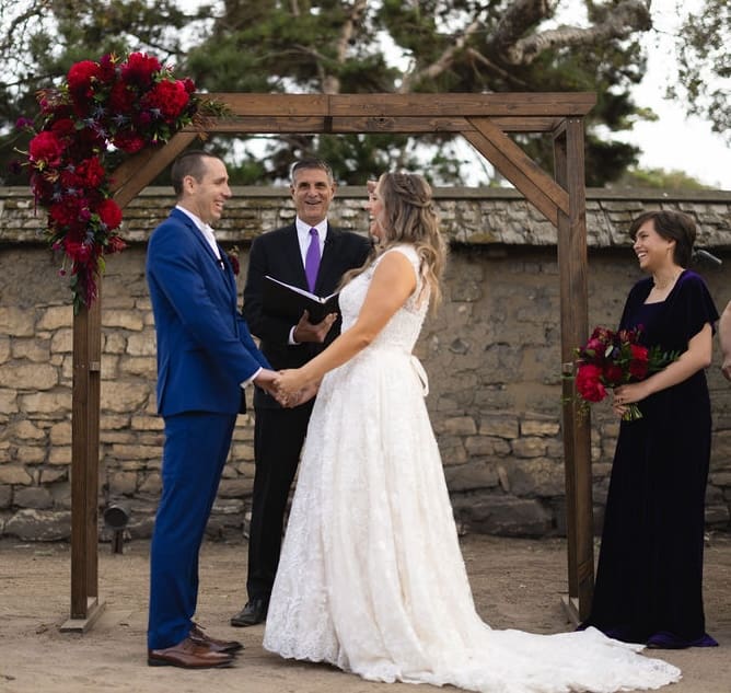
{"type": "Polygon", "coordinates": [[[193,220],[178,209],[152,233],[147,279],[158,337],[158,412],[235,414],[240,383],[270,368],[236,308],[225,253],[219,262],[193,220]]]}

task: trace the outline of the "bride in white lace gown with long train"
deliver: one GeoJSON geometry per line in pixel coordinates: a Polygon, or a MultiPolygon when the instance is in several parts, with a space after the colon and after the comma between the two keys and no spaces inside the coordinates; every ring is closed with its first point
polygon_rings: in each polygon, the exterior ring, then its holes
{"type": "Polygon", "coordinates": [[[444,246],[429,185],[384,174],[381,252],[340,293],[343,334],[280,394],[322,380],[271,593],[264,647],[375,681],[489,693],[612,692],[677,681],[642,646],[594,628],[496,631],[472,599],[411,349],[439,298],[444,246]]]}

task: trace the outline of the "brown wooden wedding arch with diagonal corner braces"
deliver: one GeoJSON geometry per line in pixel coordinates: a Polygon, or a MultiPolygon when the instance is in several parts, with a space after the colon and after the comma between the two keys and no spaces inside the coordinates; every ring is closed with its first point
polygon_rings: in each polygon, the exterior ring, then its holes
{"type": "MultiPolygon", "coordinates": [[[[186,128],[114,172],[124,209],[200,131],[230,134],[454,132],[462,135],[557,229],[560,276],[562,431],[566,470],[569,617],[589,614],[594,582],[589,417],[577,416],[573,348],[588,330],[583,118],[593,93],[503,94],[209,94],[230,115],[186,128]],[[542,132],[554,141],[554,175],[508,132],[542,132]]],[[[101,613],[97,575],[101,301],[73,319],[71,462],[71,613],[62,626],[85,631],[101,613]]]]}

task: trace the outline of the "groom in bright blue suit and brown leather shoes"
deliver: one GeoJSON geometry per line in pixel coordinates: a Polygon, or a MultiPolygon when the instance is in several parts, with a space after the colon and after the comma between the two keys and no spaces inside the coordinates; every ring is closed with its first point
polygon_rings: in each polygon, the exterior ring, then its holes
{"type": "Polygon", "coordinates": [[[172,166],[177,205],[152,233],[147,278],[164,419],[162,496],[150,547],[148,665],[230,666],[235,640],[193,622],[198,554],[229,454],[243,388],[271,391],[276,373],[236,309],[236,285],[211,223],[231,197],[224,163],[189,151],[172,166]]]}

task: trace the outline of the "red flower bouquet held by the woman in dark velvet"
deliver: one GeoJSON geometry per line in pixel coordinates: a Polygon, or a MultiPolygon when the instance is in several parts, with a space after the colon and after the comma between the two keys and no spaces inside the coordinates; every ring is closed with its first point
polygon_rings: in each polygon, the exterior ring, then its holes
{"type": "MultiPolygon", "coordinates": [[[[576,386],[584,407],[604,400],[607,389],[643,380],[677,358],[676,353],[663,353],[659,346],[642,346],[641,332],[641,325],[618,332],[595,327],[589,342],[577,349],[576,386]]],[[[629,404],[622,418],[630,421],[641,417],[639,407],[629,404]]]]}

